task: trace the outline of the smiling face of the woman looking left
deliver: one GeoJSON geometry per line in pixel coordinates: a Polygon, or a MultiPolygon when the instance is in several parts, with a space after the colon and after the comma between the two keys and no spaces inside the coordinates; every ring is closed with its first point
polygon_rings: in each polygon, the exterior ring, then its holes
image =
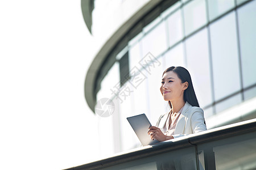
{"type": "Polygon", "coordinates": [[[160,91],[164,100],[174,101],[183,99],[184,90],[186,90],[187,87],[188,82],[182,83],[181,79],[174,71],[168,71],[163,75],[160,91]]]}

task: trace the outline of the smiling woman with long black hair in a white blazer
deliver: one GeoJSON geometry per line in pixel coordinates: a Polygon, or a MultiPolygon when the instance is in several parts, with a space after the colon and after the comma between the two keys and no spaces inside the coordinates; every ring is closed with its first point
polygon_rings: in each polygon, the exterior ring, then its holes
{"type": "Polygon", "coordinates": [[[184,67],[169,67],[163,73],[160,87],[171,111],[160,116],[148,135],[159,142],[207,130],[203,109],[199,107],[191,76],[184,67]]]}

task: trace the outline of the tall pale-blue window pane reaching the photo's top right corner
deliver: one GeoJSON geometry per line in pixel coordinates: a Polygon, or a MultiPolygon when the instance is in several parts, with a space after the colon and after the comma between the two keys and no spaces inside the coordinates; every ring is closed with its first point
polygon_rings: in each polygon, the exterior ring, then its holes
{"type": "Polygon", "coordinates": [[[243,86],[256,83],[256,1],[238,9],[240,45],[242,58],[243,86]]]}

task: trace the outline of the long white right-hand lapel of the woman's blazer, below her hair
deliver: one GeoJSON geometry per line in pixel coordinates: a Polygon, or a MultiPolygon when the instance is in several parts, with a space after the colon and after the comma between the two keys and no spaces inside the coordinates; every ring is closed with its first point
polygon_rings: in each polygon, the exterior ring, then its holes
{"type": "Polygon", "coordinates": [[[187,111],[189,110],[190,107],[191,107],[191,105],[188,102],[186,102],[182,112],[180,113],[180,117],[177,120],[174,134],[183,134],[184,129],[185,129],[185,122],[187,121],[186,120],[187,114],[188,114],[187,111]]]}

